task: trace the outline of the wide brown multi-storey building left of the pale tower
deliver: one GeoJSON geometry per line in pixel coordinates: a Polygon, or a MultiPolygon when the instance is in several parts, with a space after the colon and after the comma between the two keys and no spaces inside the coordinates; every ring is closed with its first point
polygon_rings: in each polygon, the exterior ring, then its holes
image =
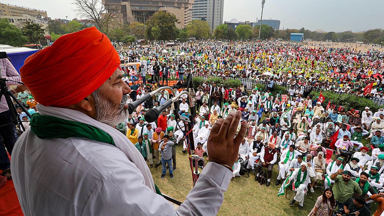
{"type": "Polygon", "coordinates": [[[145,23],[161,8],[162,11],[174,13],[179,18],[178,27],[184,28],[192,19],[190,10],[194,0],[103,0],[102,2],[107,12],[121,13],[124,20],[129,23],[145,23]]]}

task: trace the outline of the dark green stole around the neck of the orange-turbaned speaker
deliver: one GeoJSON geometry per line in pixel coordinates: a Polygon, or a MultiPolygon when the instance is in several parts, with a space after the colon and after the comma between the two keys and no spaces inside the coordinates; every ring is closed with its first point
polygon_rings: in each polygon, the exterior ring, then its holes
{"type": "MultiPolygon", "coordinates": [[[[92,125],[87,125],[77,121],[64,120],[54,116],[40,115],[34,113],[30,120],[31,131],[40,139],[53,139],[53,138],[88,138],[102,143],[115,145],[111,135],[105,131],[96,128],[92,125]]],[[[161,191],[157,188],[156,193],[161,195],[161,191]]]]}

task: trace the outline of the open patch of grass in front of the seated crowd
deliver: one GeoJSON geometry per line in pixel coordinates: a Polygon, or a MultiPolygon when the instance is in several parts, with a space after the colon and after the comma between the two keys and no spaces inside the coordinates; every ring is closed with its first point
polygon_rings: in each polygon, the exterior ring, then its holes
{"type": "MultiPolygon", "coordinates": [[[[181,202],[192,189],[192,174],[189,166],[187,153],[181,152],[182,146],[176,146],[177,169],[174,171],[174,179],[170,179],[168,171],[164,179],[160,179],[161,166],[150,168],[154,182],[162,191],[181,202]]],[[[255,181],[255,174],[250,173],[250,177],[236,177],[229,184],[227,192],[224,194],[224,203],[218,215],[258,215],[258,216],[278,216],[294,215],[307,216],[316,202],[316,198],[321,194],[321,188],[315,189],[315,193],[308,192],[304,202],[303,210],[298,208],[296,202],[293,206],[289,205],[290,200],[285,196],[277,196],[280,186],[275,186],[278,171],[277,166],[273,168],[271,185],[260,186],[255,181]]]]}

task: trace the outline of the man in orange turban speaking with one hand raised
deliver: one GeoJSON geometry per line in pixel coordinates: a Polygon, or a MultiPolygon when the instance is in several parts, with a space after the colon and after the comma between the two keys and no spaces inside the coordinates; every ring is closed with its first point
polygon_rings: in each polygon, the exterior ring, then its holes
{"type": "Polygon", "coordinates": [[[22,81],[40,113],[17,140],[11,160],[24,215],[216,215],[246,131],[242,122],[234,136],[241,113],[214,125],[213,162],[175,210],[158,195],[136,147],[113,128],[128,117],[131,91],[119,64],[111,42],[95,27],[63,35],[25,60],[22,81]]]}

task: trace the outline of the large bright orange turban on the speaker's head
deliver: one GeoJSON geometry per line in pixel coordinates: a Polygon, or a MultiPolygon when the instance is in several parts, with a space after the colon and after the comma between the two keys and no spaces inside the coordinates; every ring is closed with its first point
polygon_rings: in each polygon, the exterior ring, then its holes
{"type": "Polygon", "coordinates": [[[29,56],[20,74],[36,101],[65,107],[98,89],[119,65],[120,57],[111,41],[91,27],[63,35],[29,56]]]}

